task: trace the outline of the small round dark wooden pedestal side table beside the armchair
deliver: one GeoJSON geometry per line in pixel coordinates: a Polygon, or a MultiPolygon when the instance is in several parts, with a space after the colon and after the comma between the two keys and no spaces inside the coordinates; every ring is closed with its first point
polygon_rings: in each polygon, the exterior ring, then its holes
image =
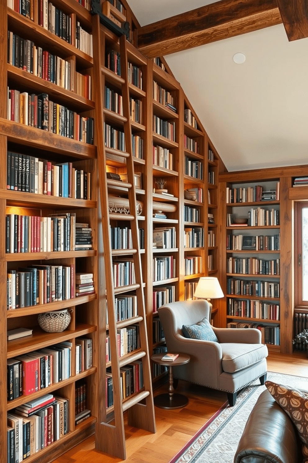
{"type": "Polygon", "coordinates": [[[188,404],[187,397],[183,394],[175,394],[172,367],[188,363],[190,361],[190,357],[187,354],[179,354],[179,357],[177,357],[173,362],[168,362],[168,360],[162,360],[162,357],[165,354],[166,352],[163,352],[161,354],[153,354],[151,356],[151,360],[153,360],[153,362],[169,367],[169,393],[156,395],[154,397],[154,405],[158,408],[166,409],[186,407],[188,404]]]}

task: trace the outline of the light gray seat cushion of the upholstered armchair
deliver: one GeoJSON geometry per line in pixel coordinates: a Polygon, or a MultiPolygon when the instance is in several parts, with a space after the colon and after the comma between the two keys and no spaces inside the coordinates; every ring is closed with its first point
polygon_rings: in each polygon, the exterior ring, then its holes
{"type": "Polygon", "coordinates": [[[222,367],[226,373],[235,373],[267,357],[265,344],[222,343],[222,367]]]}

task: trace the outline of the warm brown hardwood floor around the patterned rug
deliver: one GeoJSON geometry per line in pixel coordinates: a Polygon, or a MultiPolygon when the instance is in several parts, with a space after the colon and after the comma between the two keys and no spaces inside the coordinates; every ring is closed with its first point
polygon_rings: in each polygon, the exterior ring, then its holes
{"type": "MultiPolygon", "coordinates": [[[[308,358],[304,353],[270,353],[268,371],[308,377],[308,358]]],[[[167,392],[167,385],[154,395],[167,392]]],[[[179,382],[177,392],[189,398],[187,407],[163,410],[155,407],[156,434],[126,425],[127,463],[168,463],[208,419],[224,404],[223,392],[179,382]]],[[[121,461],[95,450],[94,436],[54,460],[54,463],[115,463],[121,461]]]]}

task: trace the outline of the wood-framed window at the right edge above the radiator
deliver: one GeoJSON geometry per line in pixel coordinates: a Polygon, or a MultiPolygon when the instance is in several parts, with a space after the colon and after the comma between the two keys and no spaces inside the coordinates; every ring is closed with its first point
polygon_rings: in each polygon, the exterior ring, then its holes
{"type": "Polygon", "coordinates": [[[295,203],[295,305],[308,308],[308,202],[295,203]]]}

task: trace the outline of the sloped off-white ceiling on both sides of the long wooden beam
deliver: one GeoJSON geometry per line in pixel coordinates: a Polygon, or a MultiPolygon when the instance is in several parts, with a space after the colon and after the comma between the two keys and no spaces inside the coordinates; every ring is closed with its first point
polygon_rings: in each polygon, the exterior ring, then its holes
{"type": "MultiPolygon", "coordinates": [[[[146,25],[213,1],[128,3],[146,25]]],[[[229,171],[308,164],[308,38],[281,24],[165,59],[229,171]]]]}

